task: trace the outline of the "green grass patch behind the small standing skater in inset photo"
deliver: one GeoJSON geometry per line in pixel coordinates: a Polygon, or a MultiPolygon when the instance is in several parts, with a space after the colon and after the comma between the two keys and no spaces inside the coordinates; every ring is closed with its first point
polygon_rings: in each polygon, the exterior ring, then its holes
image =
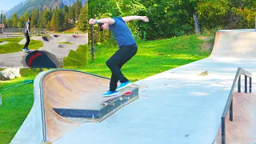
{"type": "MultiPolygon", "coordinates": [[[[0,45],[0,54],[14,53],[22,51],[24,45],[19,45],[22,38],[0,38],[0,42],[9,42],[6,45],[0,45]]],[[[30,39],[29,48],[31,50],[38,50],[42,47],[42,42],[39,40],[30,39]]]]}

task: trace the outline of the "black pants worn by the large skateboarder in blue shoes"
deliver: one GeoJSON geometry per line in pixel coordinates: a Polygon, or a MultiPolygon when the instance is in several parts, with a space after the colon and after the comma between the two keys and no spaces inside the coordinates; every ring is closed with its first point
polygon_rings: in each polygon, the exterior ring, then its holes
{"type": "Polygon", "coordinates": [[[108,66],[112,72],[111,80],[110,80],[110,91],[116,90],[118,86],[118,80],[120,82],[127,82],[128,79],[122,74],[121,68],[122,66],[130,60],[138,51],[138,46],[135,43],[131,46],[122,46],[118,51],[110,57],[106,62],[106,66],[108,66]]]}

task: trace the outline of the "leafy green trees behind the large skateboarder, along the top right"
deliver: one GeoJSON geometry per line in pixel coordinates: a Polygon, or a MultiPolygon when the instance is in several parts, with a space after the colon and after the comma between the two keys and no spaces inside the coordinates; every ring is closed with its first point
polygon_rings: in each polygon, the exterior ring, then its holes
{"type": "MultiPolygon", "coordinates": [[[[90,18],[146,15],[150,22],[129,22],[136,38],[171,38],[216,27],[252,29],[256,15],[255,0],[94,0],[89,1],[90,18]],[[196,22],[196,23],[195,23],[196,22]]],[[[95,42],[109,38],[94,26],[95,42]]]]}

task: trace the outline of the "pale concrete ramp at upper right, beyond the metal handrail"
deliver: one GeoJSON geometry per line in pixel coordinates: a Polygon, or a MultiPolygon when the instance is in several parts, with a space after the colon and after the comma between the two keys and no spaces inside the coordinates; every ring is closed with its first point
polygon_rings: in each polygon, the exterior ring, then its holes
{"type": "Polygon", "coordinates": [[[214,49],[210,58],[252,58],[256,57],[256,30],[219,30],[216,33],[214,49]]]}

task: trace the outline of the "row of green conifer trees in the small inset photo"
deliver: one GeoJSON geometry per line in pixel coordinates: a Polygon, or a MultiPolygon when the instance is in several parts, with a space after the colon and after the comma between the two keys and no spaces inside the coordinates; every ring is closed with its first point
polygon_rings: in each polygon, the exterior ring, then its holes
{"type": "Polygon", "coordinates": [[[11,19],[1,14],[4,19],[6,28],[25,28],[28,18],[31,18],[31,28],[43,28],[46,30],[62,31],[69,26],[78,23],[78,30],[86,31],[88,26],[88,3],[82,6],[82,2],[77,0],[74,5],[64,5],[62,8],[39,10],[34,9],[31,13],[28,11],[18,18],[17,14],[13,14],[11,19]]]}

